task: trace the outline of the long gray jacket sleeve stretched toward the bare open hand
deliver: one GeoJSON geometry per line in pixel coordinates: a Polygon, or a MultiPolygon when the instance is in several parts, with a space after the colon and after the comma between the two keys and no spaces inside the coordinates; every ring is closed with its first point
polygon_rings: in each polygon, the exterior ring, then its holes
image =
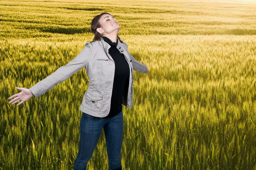
{"type": "Polygon", "coordinates": [[[42,81],[39,81],[37,84],[30,88],[31,92],[35,95],[35,97],[39,97],[44,93],[48,92],[58,83],[67,80],[71,77],[74,73],[78,72],[80,69],[84,68],[91,55],[92,51],[92,44],[85,43],[84,48],[76,56],[72,61],[67,63],[65,66],[61,66],[47,78],[44,78],[42,81]]]}

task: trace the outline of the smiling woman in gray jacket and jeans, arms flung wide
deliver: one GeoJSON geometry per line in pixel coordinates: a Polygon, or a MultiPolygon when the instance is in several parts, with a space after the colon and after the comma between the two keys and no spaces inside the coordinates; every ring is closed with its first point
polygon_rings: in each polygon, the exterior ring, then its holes
{"type": "Polygon", "coordinates": [[[92,42],[87,42],[72,61],[61,66],[30,89],[16,87],[20,93],[12,95],[9,103],[18,105],[35,95],[48,92],[58,83],[70,78],[75,72],[86,68],[89,85],[80,110],[79,151],[74,170],[86,170],[102,128],[104,129],[109,170],[121,170],[121,147],[123,138],[122,104],[131,108],[133,101],[133,71],[148,73],[145,63],[140,63],[128,52],[128,46],[117,35],[120,26],[109,13],[103,12],[93,18],[92,42]]]}

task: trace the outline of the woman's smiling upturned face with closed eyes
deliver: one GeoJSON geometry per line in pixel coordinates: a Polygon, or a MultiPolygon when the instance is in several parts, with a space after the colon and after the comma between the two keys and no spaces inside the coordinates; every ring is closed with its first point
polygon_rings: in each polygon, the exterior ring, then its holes
{"type": "Polygon", "coordinates": [[[108,35],[113,32],[116,32],[117,34],[119,32],[119,23],[110,14],[103,14],[99,19],[99,23],[101,24],[101,27],[97,28],[97,32],[102,35],[108,35]]]}

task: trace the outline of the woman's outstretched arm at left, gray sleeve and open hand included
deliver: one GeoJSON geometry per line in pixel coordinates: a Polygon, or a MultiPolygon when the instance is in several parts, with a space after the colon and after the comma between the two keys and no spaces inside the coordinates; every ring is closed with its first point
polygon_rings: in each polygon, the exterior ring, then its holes
{"type": "Polygon", "coordinates": [[[47,78],[44,78],[44,80],[39,81],[30,89],[16,87],[17,89],[20,89],[21,92],[9,97],[8,99],[16,97],[12,99],[12,101],[9,101],[9,103],[15,104],[18,101],[21,101],[19,104],[17,104],[18,106],[23,102],[27,101],[29,98],[32,98],[33,95],[35,95],[35,97],[38,98],[39,96],[43,95],[44,93],[52,89],[58,83],[67,80],[75,72],[78,72],[80,69],[84,68],[87,65],[91,57],[91,51],[92,44],[86,43],[84,48],[79,53],[79,55],[76,56],[76,58],[67,63],[67,65],[58,68],[55,72],[53,72],[47,78]]]}

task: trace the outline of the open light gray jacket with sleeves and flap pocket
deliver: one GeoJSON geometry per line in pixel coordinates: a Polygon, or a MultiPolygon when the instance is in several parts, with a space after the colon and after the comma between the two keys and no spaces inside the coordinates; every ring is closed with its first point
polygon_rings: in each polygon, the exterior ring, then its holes
{"type": "MultiPolygon", "coordinates": [[[[118,40],[116,48],[125,56],[130,67],[129,87],[126,94],[122,96],[122,104],[131,108],[133,103],[133,71],[148,73],[145,64],[138,62],[128,52],[125,42],[118,40]]],[[[67,80],[80,69],[86,69],[89,77],[89,84],[84,93],[83,101],[79,107],[82,112],[96,117],[105,117],[110,111],[111,94],[115,72],[115,63],[108,54],[111,46],[104,40],[85,43],[84,48],[72,61],[65,66],[61,66],[44,80],[38,82],[30,88],[36,98],[48,92],[58,83],[67,80]]]]}

